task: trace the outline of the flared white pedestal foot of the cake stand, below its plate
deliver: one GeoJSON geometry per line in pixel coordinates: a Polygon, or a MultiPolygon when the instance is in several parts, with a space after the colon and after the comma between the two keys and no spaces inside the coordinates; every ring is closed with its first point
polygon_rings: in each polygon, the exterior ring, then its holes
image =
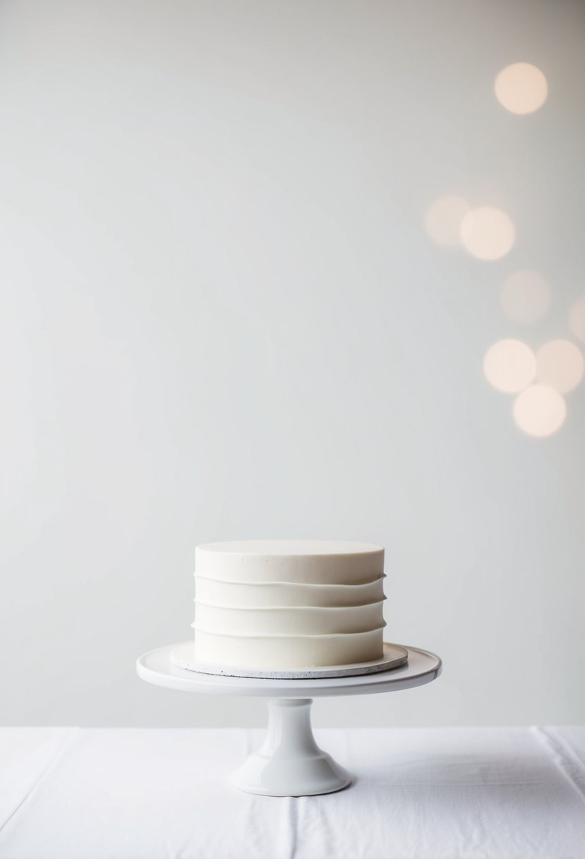
{"type": "Polygon", "coordinates": [[[311,796],[346,788],[352,777],[317,746],[311,730],[311,698],[268,701],[268,732],[232,775],[249,794],[311,796]]]}

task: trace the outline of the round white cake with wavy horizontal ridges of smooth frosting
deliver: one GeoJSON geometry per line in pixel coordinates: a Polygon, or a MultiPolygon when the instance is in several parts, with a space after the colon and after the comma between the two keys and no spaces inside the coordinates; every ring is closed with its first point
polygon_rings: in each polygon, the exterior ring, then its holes
{"type": "Polygon", "coordinates": [[[195,551],[196,660],[256,671],[383,655],[382,546],[208,543],[195,551]]]}

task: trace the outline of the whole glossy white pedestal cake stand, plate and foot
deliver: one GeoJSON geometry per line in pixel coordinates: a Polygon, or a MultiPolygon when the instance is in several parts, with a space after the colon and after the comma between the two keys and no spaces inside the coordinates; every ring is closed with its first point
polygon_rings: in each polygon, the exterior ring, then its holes
{"type": "Polygon", "coordinates": [[[172,665],[171,644],[150,650],[136,661],[138,676],[148,683],[208,695],[268,698],[268,732],[262,746],[232,775],[232,783],[250,794],[310,796],[347,787],[351,775],[317,746],[311,730],[313,698],[371,695],[431,683],[442,671],[439,657],[400,645],[407,665],[386,672],[319,679],[267,679],[204,674],[172,665]]]}

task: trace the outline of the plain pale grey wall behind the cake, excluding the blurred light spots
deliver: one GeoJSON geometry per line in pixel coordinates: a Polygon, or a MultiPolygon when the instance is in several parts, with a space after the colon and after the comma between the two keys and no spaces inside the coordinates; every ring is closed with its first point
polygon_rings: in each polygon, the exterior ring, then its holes
{"type": "Polygon", "coordinates": [[[584,388],[538,440],[482,372],[572,338],[584,34],[570,2],[2,4],[3,722],[262,723],[134,663],[190,637],[197,543],[279,536],[385,545],[389,639],[444,660],[317,724],[585,719],[584,388]],[[510,254],[433,244],[449,193],[510,254]]]}

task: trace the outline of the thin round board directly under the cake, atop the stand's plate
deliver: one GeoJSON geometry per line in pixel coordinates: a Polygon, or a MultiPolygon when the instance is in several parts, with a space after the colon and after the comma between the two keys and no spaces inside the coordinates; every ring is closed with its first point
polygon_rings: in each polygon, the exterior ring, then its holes
{"type": "Polygon", "coordinates": [[[224,677],[262,677],[268,680],[302,680],[323,679],[325,677],[351,677],[353,674],[373,674],[378,671],[389,671],[408,661],[407,650],[396,644],[383,643],[383,656],[371,662],[354,662],[352,665],[328,665],[319,668],[297,668],[290,671],[254,671],[251,668],[221,667],[198,662],[195,642],[189,641],[178,644],[171,651],[171,661],[179,668],[197,671],[202,674],[220,674],[224,677]]]}

